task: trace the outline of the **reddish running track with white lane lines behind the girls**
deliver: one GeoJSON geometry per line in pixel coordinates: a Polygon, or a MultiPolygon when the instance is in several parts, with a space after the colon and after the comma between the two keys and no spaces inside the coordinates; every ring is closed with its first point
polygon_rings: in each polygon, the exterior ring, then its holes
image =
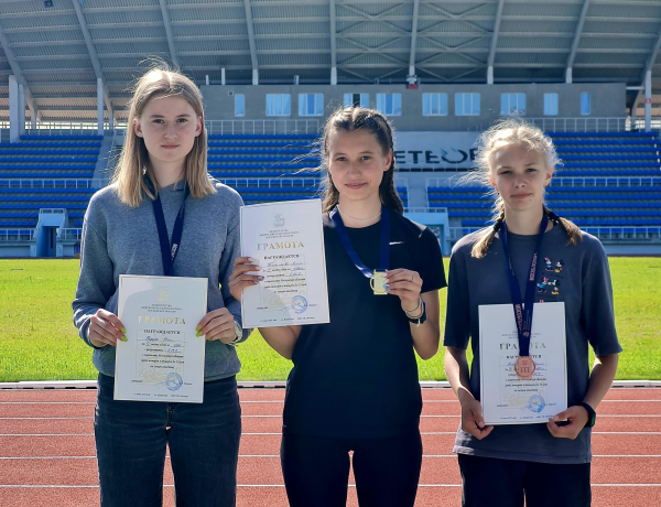
{"type": "MultiPolygon", "coordinates": [[[[278,456],[284,389],[239,392],[238,506],[284,507],[278,456]]],[[[0,390],[0,506],[99,504],[95,396],[90,389],[0,390]]],[[[460,477],[452,444],[459,406],[449,389],[423,389],[423,398],[416,506],[458,506],[460,477]]],[[[599,407],[593,454],[593,506],[661,506],[661,389],[611,389],[599,407]]],[[[166,462],[166,506],[174,505],[172,483],[166,462]]],[[[358,505],[355,487],[348,505],[358,505]]]]}

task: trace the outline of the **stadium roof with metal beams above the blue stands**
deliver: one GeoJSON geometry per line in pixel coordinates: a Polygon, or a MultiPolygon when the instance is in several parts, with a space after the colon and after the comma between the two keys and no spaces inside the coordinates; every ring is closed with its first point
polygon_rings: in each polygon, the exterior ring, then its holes
{"type": "MultiPolygon", "coordinates": [[[[96,118],[96,83],[123,117],[149,62],[198,84],[643,83],[661,116],[661,0],[0,0],[0,118],[10,74],[42,120],[96,118]],[[52,7],[48,7],[52,6],[52,7]],[[415,36],[412,37],[412,33],[415,36]],[[415,43],[412,46],[412,41],[415,43]]],[[[638,116],[643,99],[638,96],[638,116]]]]}

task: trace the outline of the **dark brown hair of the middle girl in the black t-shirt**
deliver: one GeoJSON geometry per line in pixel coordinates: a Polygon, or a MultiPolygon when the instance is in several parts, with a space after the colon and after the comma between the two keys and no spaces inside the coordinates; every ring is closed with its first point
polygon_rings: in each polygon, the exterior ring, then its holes
{"type": "MultiPolygon", "coordinates": [[[[328,172],[328,154],[330,152],[330,139],[335,132],[344,130],[353,132],[355,130],[365,130],[375,136],[375,139],[388,154],[393,150],[394,143],[392,139],[392,127],[388,119],[379,111],[367,109],[364,107],[348,107],[333,114],[326,126],[324,127],[324,137],[321,147],[322,165],[326,169],[326,176],[322,182],[322,187],[325,187],[325,196],[323,201],[324,212],[329,212],[339,203],[339,191],[333,183],[333,177],[328,172]]],[[[383,173],[383,179],[379,185],[379,197],[381,203],[391,212],[404,213],[404,205],[394,187],[394,153],[392,162],[388,171],[383,173]]]]}

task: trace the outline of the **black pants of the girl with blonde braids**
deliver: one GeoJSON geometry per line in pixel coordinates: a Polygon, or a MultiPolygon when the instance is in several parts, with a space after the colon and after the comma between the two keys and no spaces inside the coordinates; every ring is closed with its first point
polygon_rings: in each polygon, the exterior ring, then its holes
{"type": "Polygon", "coordinates": [[[464,507],[589,507],[589,463],[576,465],[459,454],[464,507]]]}

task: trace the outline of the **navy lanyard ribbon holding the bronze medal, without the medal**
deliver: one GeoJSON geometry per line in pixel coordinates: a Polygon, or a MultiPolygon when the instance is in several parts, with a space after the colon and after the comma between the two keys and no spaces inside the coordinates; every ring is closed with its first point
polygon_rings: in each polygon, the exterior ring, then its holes
{"type": "Polygon", "coordinates": [[[509,268],[509,282],[510,293],[512,295],[512,305],[514,306],[514,320],[517,321],[517,333],[519,335],[519,356],[530,356],[530,331],[532,328],[532,310],[534,308],[534,290],[535,290],[535,274],[537,263],[540,256],[540,248],[542,247],[542,239],[549,225],[549,217],[544,215],[542,224],[540,225],[540,233],[538,235],[538,242],[534,247],[534,254],[532,255],[532,261],[530,262],[530,271],[528,280],[525,281],[525,305],[521,308],[523,299],[521,298],[521,290],[519,289],[519,282],[517,282],[517,276],[512,269],[512,261],[509,257],[507,249],[507,224],[502,223],[502,229],[500,230],[500,239],[502,240],[502,248],[505,250],[505,258],[509,268]]]}

